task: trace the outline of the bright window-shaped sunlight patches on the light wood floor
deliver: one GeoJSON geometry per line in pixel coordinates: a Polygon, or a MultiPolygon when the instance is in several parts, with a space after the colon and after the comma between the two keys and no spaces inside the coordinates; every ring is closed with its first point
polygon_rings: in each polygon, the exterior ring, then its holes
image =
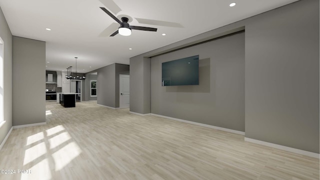
{"type": "MultiPolygon", "coordinates": [[[[51,114],[51,111],[47,110],[45,113],[51,114]]],[[[63,169],[82,152],[62,125],[28,136],[27,145],[30,147],[24,151],[23,166],[31,167],[32,173],[48,179],[55,173],[53,170],[63,169]],[[50,166],[52,161],[54,166],[50,166]]],[[[25,174],[21,179],[28,177],[25,174]]]]}

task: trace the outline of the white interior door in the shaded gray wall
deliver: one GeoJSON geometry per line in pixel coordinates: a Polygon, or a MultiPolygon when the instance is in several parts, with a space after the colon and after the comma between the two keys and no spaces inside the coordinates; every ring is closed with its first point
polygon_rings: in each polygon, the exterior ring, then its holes
{"type": "Polygon", "coordinates": [[[127,108],[130,105],[130,75],[120,74],[119,81],[119,107],[127,108]]]}

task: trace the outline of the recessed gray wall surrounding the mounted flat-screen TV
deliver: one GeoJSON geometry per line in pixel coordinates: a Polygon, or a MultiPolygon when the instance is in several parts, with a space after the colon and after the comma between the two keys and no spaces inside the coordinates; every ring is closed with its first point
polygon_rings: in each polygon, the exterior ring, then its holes
{"type": "Polygon", "coordinates": [[[244,131],[244,32],[151,58],[151,113],[244,131]],[[161,86],[161,63],[199,55],[199,85],[161,86]]]}

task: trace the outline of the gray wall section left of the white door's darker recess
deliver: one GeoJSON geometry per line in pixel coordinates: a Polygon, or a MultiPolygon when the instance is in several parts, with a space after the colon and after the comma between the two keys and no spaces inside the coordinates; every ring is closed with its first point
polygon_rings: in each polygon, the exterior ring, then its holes
{"type": "Polygon", "coordinates": [[[97,72],[97,104],[115,107],[115,64],[107,65],[97,72]]]}

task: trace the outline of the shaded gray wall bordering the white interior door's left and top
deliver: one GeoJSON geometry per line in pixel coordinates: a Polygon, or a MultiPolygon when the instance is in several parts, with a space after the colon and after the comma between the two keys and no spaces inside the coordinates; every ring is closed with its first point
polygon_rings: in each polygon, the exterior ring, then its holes
{"type": "Polygon", "coordinates": [[[120,105],[120,74],[129,75],[130,73],[130,66],[127,64],[119,64],[115,63],[115,107],[119,107],[120,105]]]}

